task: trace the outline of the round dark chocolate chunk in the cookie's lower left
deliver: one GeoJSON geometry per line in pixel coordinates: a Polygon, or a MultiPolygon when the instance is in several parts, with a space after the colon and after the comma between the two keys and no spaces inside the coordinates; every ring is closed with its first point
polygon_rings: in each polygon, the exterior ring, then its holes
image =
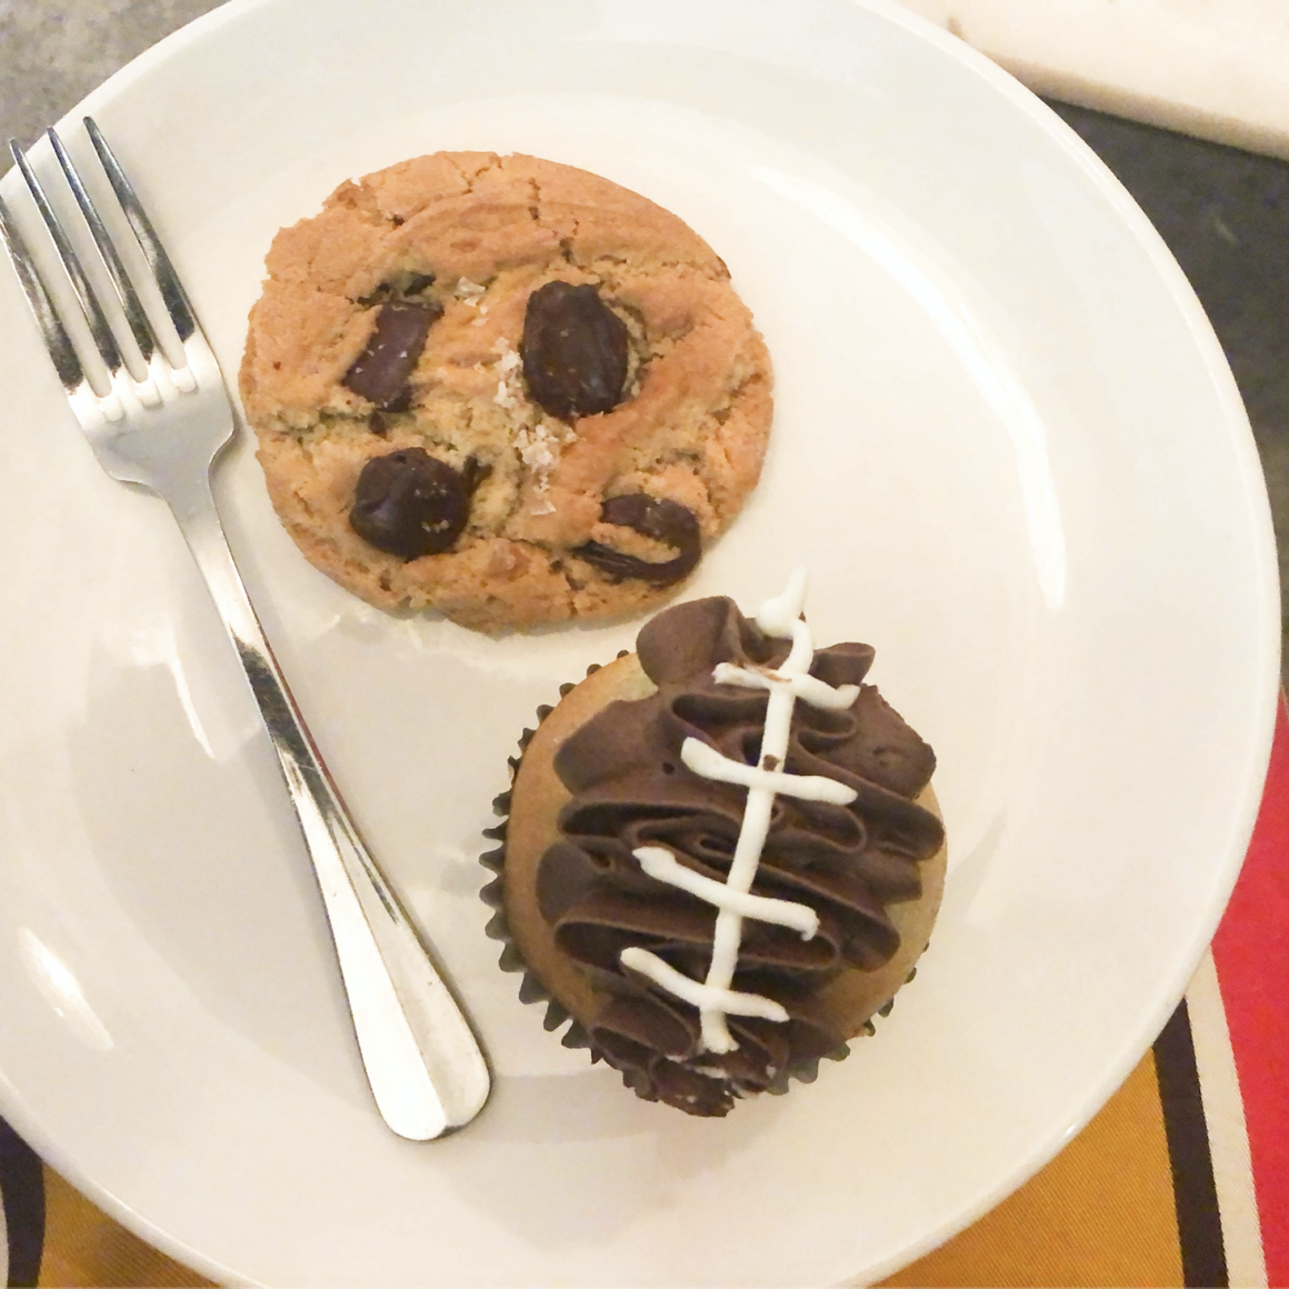
{"type": "Polygon", "coordinates": [[[438,554],[461,535],[470,509],[460,474],[423,447],[374,456],[358,474],[349,526],[403,559],[438,554]]]}

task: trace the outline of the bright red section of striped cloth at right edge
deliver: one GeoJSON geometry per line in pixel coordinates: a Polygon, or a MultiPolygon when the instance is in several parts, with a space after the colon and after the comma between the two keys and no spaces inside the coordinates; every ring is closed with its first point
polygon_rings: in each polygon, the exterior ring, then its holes
{"type": "Polygon", "coordinates": [[[1262,808],[1213,959],[1240,1076],[1267,1283],[1289,1285],[1289,719],[1283,695],[1262,808]]]}

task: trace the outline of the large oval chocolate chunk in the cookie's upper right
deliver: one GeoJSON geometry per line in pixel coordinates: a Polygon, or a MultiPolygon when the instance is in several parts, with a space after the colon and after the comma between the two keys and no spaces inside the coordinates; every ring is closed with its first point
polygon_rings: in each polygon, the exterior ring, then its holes
{"type": "Polygon", "coordinates": [[[528,394],[552,416],[592,416],[621,402],[626,326],[594,286],[547,282],[535,290],[519,354],[528,394]]]}

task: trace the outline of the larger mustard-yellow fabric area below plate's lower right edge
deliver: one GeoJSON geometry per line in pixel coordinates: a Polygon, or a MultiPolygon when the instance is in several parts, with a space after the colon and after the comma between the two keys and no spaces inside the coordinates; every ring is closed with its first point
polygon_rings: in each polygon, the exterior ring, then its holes
{"type": "Polygon", "coordinates": [[[1148,1054],[1014,1195],[884,1285],[1182,1285],[1168,1138],[1148,1054]]]}

